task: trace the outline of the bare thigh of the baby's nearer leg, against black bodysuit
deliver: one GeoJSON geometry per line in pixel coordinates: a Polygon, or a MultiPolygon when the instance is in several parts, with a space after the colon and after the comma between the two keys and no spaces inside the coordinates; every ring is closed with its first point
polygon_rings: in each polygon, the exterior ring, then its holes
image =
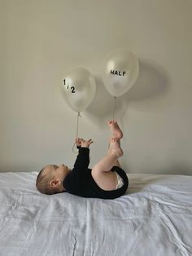
{"type": "Polygon", "coordinates": [[[110,171],[97,171],[93,168],[91,175],[94,181],[98,184],[99,188],[103,190],[114,190],[117,185],[117,177],[114,172],[110,171]]]}

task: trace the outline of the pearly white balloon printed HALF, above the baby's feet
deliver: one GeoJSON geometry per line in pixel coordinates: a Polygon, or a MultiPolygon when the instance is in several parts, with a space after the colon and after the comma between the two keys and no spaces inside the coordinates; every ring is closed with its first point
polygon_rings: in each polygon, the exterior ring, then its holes
{"type": "Polygon", "coordinates": [[[113,51],[104,63],[103,83],[110,95],[124,95],[136,82],[139,73],[137,57],[131,51],[113,51]]]}

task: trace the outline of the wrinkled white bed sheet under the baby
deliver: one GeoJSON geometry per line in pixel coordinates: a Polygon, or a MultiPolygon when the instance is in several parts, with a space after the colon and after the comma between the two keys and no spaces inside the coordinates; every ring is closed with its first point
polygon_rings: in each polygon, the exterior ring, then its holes
{"type": "Polygon", "coordinates": [[[42,195],[36,177],[0,173],[1,256],[192,255],[192,176],[128,174],[115,200],[42,195]]]}

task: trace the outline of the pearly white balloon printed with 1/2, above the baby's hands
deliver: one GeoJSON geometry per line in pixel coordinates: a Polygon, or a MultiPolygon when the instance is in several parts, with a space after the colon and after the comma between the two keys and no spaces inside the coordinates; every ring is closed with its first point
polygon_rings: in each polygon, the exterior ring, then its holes
{"type": "Polygon", "coordinates": [[[94,77],[85,68],[76,68],[63,77],[63,97],[72,110],[81,113],[94,99],[94,77]]]}

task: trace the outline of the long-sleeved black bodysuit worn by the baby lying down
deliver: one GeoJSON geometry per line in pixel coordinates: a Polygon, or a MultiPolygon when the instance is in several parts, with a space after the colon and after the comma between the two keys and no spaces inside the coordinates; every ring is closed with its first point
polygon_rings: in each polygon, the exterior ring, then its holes
{"type": "Polygon", "coordinates": [[[124,185],[116,190],[103,190],[98,187],[98,184],[94,181],[91,175],[91,169],[89,166],[89,148],[79,147],[79,154],[76,157],[76,161],[72,171],[63,180],[63,186],[66,189],[65,192],[69,192],[76,196],[83,197],[97,197],[103,199],[113,199],[124,195],[126,192],[129,179],[124,170],[119,166],[113,166],[111,171],[115,171],[124,179],[124,185]]]}

